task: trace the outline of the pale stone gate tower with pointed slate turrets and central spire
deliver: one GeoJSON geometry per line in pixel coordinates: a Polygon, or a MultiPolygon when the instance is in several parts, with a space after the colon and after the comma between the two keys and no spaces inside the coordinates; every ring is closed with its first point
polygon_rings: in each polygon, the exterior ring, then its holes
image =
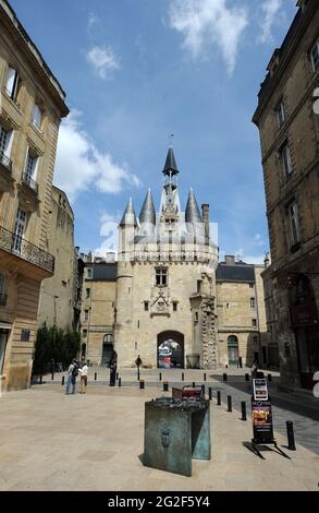
{"type": "Polygon", "coordinates": [[[213,368],[218,365],[216,267],[209,206],[191,190],[181,208],[173,148],[156,212],[150,190],[136,217],[130,200],[119,226],[114,349],[120,367],[213,368]]]}

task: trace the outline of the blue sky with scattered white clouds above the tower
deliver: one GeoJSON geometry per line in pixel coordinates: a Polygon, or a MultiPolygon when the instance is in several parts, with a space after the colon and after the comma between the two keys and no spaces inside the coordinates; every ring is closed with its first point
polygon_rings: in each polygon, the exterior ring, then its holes
{"type": "Polygon", "coordinates": [[[68,94],[54,182],[82,251],[108,248],[127,199],[156,207],[169,135],[182,206],[210,204],[221,254],[268,250],[259,84],[295,0],[11,0],[68,94]]]}

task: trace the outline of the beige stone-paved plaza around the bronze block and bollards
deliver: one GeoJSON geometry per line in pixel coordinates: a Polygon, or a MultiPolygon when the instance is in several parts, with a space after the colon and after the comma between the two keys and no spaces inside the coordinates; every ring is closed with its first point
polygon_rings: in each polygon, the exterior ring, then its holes
{"type": "MultiPolygon", "coordinates": [[[[286,438],[277,432],[280,446],[292,457],[286,460],[272,450],[265,450],[265,461],[250,452],[245,442],[251,439],[251,422],[240,419],[238,410],[228,413],[211,402],[210,462],[193,461],[191,478],[143,466],[144,404],[162,395],[156,378],[146,371],[146,389],[134,382],[134,371],[123,372],[124,385],[109,387],[100,375],[90,381],[87,394],[66,396],[64,389],[50,377],[42,385],[28,391],[12,392],[0,398],[0,490],[100,490],[100,491],[187,491],[187,490],[318,490],[319,450],[318,420],[307,418],[292,403],[285,419],[292,415],[303,419],[312,450],[299,443],[297,451],[285,449],[286,438]],[[315,430],[315,431],[314,431],[315,430]]],[[[100,373],[102,371],[100,370],[100,373]]],[[[107,378],[107,370],[103,370],[107,378]]],[[[186,380],[199,381],[199,371],[186,371],[186,380]]],[[[201,372],[203,375],[203,372],[201,372]]],[[[164,379],[176,382],[169,371],[164,379]]],[[[248,390],[237,383],[243,377],[230,378],[228,384],[219,378],[208,378],[213,390],[232,391],[234,406],[248,398],[248,390]],[[235,380],[235,381],[234,381],[235,380]]],[[[247,386],[246,383],[243,386],[247,386]]],[[[248,384],[249,386],[249,384],[248,384]]],[[[275,386],[273,385],[273,392],[275,386]]],[[[274,408],[274,428],[278,413],[274,408]]],[[[311,404],[309,405],[311,415],[311,404]]],[[[284,414],[280,423],[284,421],[284,414]]],[[[314,415],[315,408],[314,408],[314,415]]],[[[299,419],[299,421],[302,421],[299,419]]],[[[294,419],[295,420],[295,419],[294,419]]],[[[281,429],[279,430],[281,431],[281,429]]],[[[310,448],[311,449],[311,448],[310,448]]]]}

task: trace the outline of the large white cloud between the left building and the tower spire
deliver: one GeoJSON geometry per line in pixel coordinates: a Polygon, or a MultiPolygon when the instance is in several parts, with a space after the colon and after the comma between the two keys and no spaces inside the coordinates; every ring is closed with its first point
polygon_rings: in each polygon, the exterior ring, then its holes
{"type": "Polygon", "coordinates": [[[70,201],[87,190],[116,194],[125,186],[139,186],[138,178],[126,164],[113,162],[110,153],[101,153],[73,111],[60,128],[54,183],[66,192],[70,201]]]}

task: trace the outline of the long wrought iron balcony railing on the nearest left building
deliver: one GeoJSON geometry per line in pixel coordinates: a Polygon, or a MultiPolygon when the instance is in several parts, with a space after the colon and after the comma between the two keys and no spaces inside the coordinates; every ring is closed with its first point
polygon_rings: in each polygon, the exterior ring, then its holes
{"type": "Polygon", "coordinates": [[[39,267],[54,272],[54,256],[0,226],[0,249],[39,267]]]}

